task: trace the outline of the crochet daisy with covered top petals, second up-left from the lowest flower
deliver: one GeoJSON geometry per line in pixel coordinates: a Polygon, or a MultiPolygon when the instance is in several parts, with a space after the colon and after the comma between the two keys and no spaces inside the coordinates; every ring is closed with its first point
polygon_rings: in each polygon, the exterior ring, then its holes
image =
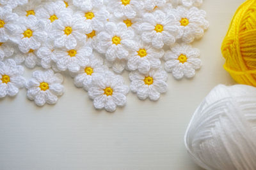
{"type": "Polygon", "coordinates": [[[56,55],[52,55],[52,60],[60,71],[71,71],[76,73],[80,67],[86,66],[89,62],[88,57],[92,55],[92,48],[84,44],[78,44],[75,48],[57,49],[56,55]]]}

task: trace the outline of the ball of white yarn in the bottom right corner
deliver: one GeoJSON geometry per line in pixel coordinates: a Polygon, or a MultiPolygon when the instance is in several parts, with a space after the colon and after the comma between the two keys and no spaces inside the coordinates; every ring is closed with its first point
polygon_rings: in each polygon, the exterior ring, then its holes
{"type": "Polygon", "coordinates": [[[212,89],[189,123],[185,145],[205,169],[256,169],[256,88],[212,89]]]}

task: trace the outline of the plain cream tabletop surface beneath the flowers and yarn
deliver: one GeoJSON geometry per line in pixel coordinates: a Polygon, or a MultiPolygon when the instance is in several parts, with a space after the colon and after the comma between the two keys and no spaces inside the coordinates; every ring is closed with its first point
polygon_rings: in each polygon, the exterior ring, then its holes
{"type": "Polygon", "coordinates": [[[211,26],[193,44],[201,50],[202,69],[193,80],[169,76],[168,92],[157,103],[130,93],[125,108],[95,111],[68,76],[55,106],[36,107],[24,89],[0,99],[0,169],[200,169],[186,153],[184,132],[214,86],[234,83],[222,67],[220,46],[241,3],[204,1],[211,26]]]}

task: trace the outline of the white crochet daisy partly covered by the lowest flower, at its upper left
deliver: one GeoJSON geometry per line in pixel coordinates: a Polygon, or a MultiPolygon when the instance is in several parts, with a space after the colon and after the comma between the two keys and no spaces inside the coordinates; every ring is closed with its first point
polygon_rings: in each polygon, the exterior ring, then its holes
{"type": "Polygon", "coordinates": [[[76,87],[83,87],[86,91],[88,91],[92,86],[93,76],[97,74],[104,74],[108,71],[108,67],[103,65],[103,59],[97,54],[91,55],[88,59],[89,62],[86,66],[81,67],[74,78],[74,84],[76,87]]]}

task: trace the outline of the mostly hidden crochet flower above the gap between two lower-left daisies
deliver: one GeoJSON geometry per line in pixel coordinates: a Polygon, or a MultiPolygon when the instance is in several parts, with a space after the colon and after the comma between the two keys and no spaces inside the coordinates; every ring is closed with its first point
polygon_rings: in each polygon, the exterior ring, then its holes
{"type": "Polygon", "coordinates": [[[30,49],[27,53],[15,53],[14,60],[17,64],[25,62],[25,66],[33,69],[36,65],[40,66],[40,59],[36,56],[36,50],[30,49]]]}

